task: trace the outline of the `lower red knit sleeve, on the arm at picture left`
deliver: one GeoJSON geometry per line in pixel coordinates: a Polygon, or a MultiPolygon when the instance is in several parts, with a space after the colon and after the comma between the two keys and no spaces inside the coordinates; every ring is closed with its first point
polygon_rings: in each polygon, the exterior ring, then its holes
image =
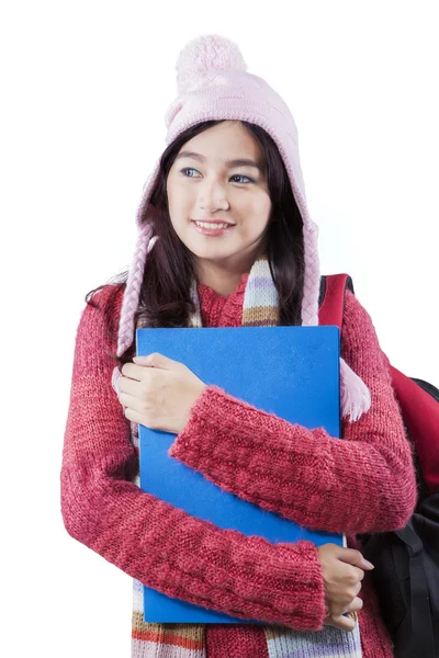
{"type": "Polygon", "coordinates": [[[105,288],[93,296],[100,307],[83,309],[76,336],[60,472],[67,532],[169,597],[239,619],[320,629],[324,581],[311,542],[272,544],[219,529],[132,481],[138,460],[111,386],[109,350],[116,345],[101,313],[109,297],[105,288]]]}

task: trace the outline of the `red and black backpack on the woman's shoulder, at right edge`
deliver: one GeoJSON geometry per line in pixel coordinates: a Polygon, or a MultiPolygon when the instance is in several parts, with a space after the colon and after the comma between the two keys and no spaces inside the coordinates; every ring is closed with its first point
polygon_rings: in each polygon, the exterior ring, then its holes
{"type": "MultiPolygon", "coordinates": [[[[322,276],[320,325],[341,331],[348,274],[322,276]]],[[[385,356],[407,440],[414,446],[418,501],[407,525],[359,535],[395,658],[439,658],[439,389],[407,377],[385,356]]]]}

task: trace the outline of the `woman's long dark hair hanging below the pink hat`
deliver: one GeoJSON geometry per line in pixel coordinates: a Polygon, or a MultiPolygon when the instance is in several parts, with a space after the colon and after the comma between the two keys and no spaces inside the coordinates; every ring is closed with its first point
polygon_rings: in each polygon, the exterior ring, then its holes
{"type": "MultiPolygon", "coordinates": [[[[194,274],[194,254],[176,234],[168,211],[166,184],[169,170],[181,147],[203,131],[222,123],[205,121],[199,123],[172,141],[160,158],[159,174],[149,202],[157,211],[154,219],[154,235],[157,242],[147,256],[142,282],[139,304],[134,317],[148,318],[149,327],[185,327],[193,313],[190,285],[194,274]]],[[[301,325],[301,306],[304,280],[303,219],[291,190],[290,180],[274,140],[256,124],[240,122],[262,147],[266,160],[267,183],[271,200],[271,215],[259,254],[264,252],[271,275],[279,295],[279,325],[301,325]]],[[[145,213],[146,214],[145,208],[145,213]]],[[[142,219],[142,218],[140,218],[142,219]]],[[[113,281],[93,288],[86,295],[87,304],[99,307],[90,299],[92,295],[108,286],[113,286],[109,303],[102,311],[105,315],[105,331],[110,344],[117,341],[115,303],[121,288],[126,286],[128,271],[116,275],[113,281]]],[[[108,354],[122,365],[135,355],[135,341],[119,358],[108,354]]]]}

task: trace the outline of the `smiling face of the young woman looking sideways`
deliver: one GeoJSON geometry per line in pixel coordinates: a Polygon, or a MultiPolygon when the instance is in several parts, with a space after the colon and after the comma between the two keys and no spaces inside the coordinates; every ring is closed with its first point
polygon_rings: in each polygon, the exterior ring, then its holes
{"type": "Polygon", "coordinates": [[[235,272],[251,266],[271,201],[262,148],[239,122],[224,121],[187,141],[169,171],[167,194],[177,235],[204,266],[235,272]],[[207,235],[194,219],[233,226],[207,235]]]}

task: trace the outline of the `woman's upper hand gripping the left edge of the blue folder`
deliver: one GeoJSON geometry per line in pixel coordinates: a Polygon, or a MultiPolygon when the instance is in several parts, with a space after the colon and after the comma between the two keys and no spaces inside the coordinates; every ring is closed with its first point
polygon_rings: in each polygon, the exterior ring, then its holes
{"type": "Polygon", "coordinates": [[[178,434],[198,397],[207,388],[183,363],[154,352],[134,356],[119,378],[119,401],[128,420],[178,434]]]}

